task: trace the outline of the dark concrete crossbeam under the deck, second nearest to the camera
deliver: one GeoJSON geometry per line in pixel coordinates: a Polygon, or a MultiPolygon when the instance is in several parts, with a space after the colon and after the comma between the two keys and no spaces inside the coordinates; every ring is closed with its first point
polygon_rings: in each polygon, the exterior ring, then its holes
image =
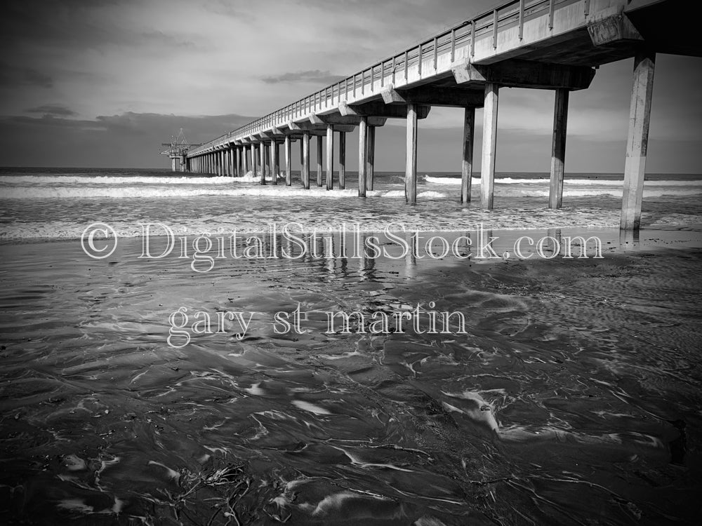
{"type": "Polygon", "coordinates": [[[493,65],[470,62],[451,68],[459,84],[498,84],[509,88],[584,90],[595,78],[595,69],[588,66],[544,64],[531,60],[505,60],[493,65]]]}

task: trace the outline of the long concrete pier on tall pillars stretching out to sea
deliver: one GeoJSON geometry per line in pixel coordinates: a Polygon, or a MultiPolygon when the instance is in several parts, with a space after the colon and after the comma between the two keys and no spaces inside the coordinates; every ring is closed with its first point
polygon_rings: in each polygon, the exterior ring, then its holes
{"type": "MultiPolygon", "coordinates": [[[[310,139],[317,137],[317,187],[345,188],[346,134],[359,128],[358,195],[373,189],[376,128],[406,121],[405,196],[417,198],[418,123],[432,106],[463,109],[461,201],[470,201],[475,109],[483,109],[482,208],[494,207],[498,106],[503,87],[552,90],[554,119],[548,206],[562,205],[569,92],[590,86],[597,67],[634,59],[620,227],[640,225],[656,53],[702,56],[694,17],[675,0],[512,0],[376,62],[331,86],[191,147],[193,173],[266,176],[283,168],[291,185],[291,143],[300,141],[300,179],[310,188],[310,139]],[[326,149],[324,142],[326,141],[326,149]],[[334,142],[338,142],[335,148],[334,142]],[[283,146],[283,156],[280,146],[283,146]],[[324,159],[323,159],[324,156],[324,159]]],[[[457,167],[458,168],[458,167],[457,167]]],[[[277,177],[270,177],[277,184],[277,177]]]]}

